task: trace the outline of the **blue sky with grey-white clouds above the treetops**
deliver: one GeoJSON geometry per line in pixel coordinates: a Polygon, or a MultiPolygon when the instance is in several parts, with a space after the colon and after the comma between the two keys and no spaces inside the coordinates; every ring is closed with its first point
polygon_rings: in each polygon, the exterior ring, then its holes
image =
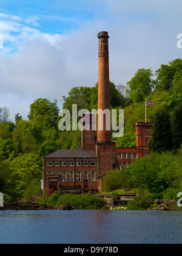
{"type": "Polygon", "coordinates": [[[153,73],[182,57],[181,0],[0,0],[0,107],[27,119],[38,98],[98,80],[99,31],[109,32],[110,80],[153,73]]]}

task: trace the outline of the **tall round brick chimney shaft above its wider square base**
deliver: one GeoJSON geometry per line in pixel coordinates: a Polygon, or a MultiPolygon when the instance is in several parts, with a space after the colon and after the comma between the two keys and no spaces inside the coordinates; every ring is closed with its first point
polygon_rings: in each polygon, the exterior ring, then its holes
{"type": "MultiPolygon", "coordinates": [[[[109,93],[109,35],[106,31],[99,32],[99,63],[98,63],[98,110],[110,110],[109,93]]],[[[98,120],[99,118],[98,113],[98,120]]],[[[106,115],[103,115],[103,130],[97,130],[97,141],[110,141],[110,130],[106,130],[106,115]]],[[[99,123],[98,123],[99,128],[99,123]]]]}

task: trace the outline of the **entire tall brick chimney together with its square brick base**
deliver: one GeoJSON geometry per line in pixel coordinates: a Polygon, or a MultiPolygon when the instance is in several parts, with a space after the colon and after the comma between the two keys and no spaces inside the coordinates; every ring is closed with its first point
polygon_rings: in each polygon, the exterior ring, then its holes
{"type": "MultiPolygon", "coordinates": [[[[98,157],[98,188],[101,191],[102,177],[107,171],[112,169],[113,148],[110,135],[110,127],[106,126],[106,115],[99,113],[99,110],[110,110],[110,93],[109,93],[109,47],[108,33],[106,31],[99,32],[99,62],[98,62],[98,128],[96,155],[98,157]],[[101,118],[103,115],[103,124],[101,118]],[[100,124],[103,126],[100,129],[100,124]]],[[[110,118],[110,116],[109,116],[110,118]]]]}

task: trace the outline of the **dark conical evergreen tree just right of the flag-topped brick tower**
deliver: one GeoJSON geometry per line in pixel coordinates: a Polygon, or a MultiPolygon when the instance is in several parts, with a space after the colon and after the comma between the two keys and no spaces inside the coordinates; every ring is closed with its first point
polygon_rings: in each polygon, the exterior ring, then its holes
{"type": "Polygon", "coordinates": [[[170,115],[166,108],[159,108],[155,113],[152,132],[152,151],[164,152],[172,150],[172,133],[170,115]]]}

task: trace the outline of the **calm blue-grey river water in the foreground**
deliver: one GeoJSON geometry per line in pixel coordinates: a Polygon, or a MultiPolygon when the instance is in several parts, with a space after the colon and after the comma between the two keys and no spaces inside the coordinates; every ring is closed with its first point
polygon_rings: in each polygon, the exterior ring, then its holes
{"type": "Polygon", "coordinates": [[[0,211],[0,244],[181,244],[182,211],[0,211]]]}

